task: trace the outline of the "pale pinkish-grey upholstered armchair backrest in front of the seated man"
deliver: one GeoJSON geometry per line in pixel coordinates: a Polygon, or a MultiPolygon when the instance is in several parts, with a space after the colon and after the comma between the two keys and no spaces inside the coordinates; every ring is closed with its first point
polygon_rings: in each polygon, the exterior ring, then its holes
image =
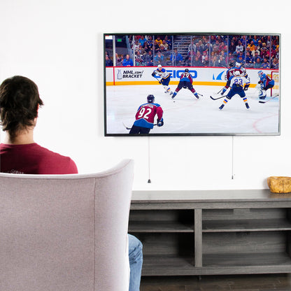
{"type": "Polygon", "coordinates": [[[0,173],[0,290],[128,291],[133,172],[0,173]]]}

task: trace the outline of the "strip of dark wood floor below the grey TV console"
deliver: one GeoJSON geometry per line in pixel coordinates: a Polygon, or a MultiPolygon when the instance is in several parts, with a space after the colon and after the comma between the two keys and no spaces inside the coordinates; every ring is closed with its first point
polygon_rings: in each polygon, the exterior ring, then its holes
{"type": "Polygon", "coordinates": [[[141,291],[291,291],[290,274],[142,277],[141,291]]]}

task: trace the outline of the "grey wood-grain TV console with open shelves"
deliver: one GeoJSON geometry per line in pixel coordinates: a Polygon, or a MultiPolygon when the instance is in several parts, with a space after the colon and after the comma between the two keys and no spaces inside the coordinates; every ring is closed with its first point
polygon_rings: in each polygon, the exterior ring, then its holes
{"type": "Polygon", "coordinates": [[[143,276],[291,273],[291,194],[134,191],[143,276]]]}

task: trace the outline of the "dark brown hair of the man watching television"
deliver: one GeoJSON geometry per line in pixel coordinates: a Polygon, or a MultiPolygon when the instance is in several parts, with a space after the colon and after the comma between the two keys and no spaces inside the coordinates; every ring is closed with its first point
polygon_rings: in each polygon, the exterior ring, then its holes
{"type": "Polygon", "coordinates": [[[3,131],[15,139],[17,132],[34,125],[38,116],[39,97],[37,85],[22,76],[14,76],[0,85],[0,118],[3,131]]]}

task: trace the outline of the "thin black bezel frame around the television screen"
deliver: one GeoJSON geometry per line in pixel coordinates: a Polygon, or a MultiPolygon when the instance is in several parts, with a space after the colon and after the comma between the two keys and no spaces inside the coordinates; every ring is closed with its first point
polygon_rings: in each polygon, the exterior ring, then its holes
{"type": "Polygon", "coordinates": [[[104,43],[104,136],[281,136],[281,33],[277,32],[125,32],[125,33],[104,33],[103,34],[103,43],[104,43]],[[107,104],[106,104],[106,59],[105,59],[105,52],[106,52],[106,36],[140,36],[140,35],[152,35],[152,36],[158,36],[158,35],[167,35],[167,36],[211,36],[211,35],[221,35],[221,36],[279,36],[279,69],[278,72],[280,74],[279,79],[279,110],[278,110],[278,133],[232,133],[232,132],[225,132],[225,133],[149,133],[149,134],[108,134],[107,133],[107,104]]]}

